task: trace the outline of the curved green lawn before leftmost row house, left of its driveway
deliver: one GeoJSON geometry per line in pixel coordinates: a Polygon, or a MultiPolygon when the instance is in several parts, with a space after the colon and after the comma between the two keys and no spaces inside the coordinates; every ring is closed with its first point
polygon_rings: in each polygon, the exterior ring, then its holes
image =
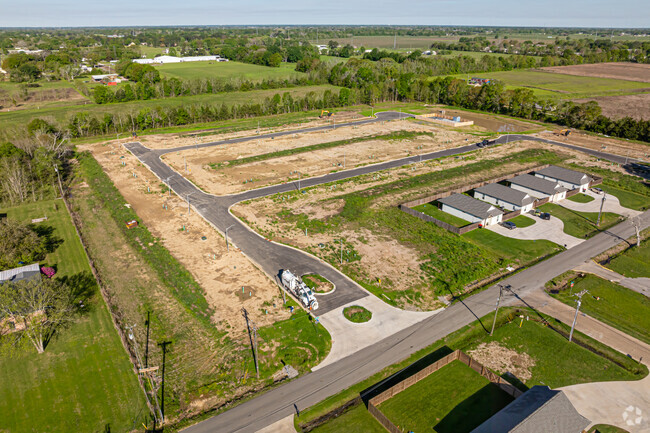
{"type": "MultiPolygon", "coordinates": [[[[519,225],[517,225],[519,227],[519,225]]],[[[529,263],[538,257],[558,253],[564,250],[555,242],[546,239],[522,240],[502,236],[487,229],[476,229],[462,235],[474,244],[494,252],[499,257],[529,263]]]]}

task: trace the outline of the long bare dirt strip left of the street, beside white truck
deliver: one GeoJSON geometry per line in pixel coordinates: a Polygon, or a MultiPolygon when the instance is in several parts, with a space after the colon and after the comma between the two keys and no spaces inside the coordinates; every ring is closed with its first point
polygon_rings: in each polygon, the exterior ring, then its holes
{"type": "Polygon", "coordinates": [[[165,247],[205,289],[219,328],[232,327],[243,333],[241,307],[246,307],[259,326],[288,317],[287,310],[281,308],[278,287],[241,251],[226,251],[223,237],[196,213],[188,215],[187,205],[180,198],[163,194],[160,181],[122,146],[93,144],[85,149],[93,153],[154,236],[164,241],[165,247]],[[163,209],[163,204],[167,209],[163,209]]]}

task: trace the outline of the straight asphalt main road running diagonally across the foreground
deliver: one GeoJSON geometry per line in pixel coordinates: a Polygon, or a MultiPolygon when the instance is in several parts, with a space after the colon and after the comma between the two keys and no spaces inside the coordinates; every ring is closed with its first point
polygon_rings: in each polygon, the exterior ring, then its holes
{"type": "MultiPolygon", "coordinates": [[[[641,227],[650,225],[650,211],[641,215],[641,227]]],[[[634,228],[625,221],[600,233],[577,247],[564,251],[502,282],[511,285],[504,291],[501,305],[523,300],[526,294],[542,289],[544,283],[590,259],[591,257],[634,235],[634,228]]],[[[494,310],[499,289],[492,286],[452,304],[439,314],[425,319],[379,343],[360,350],[338,362],[273,389],[242,403],[218,416],[202,421],[184,431],[255,432],[280,419],[304,410],[399,362],[440,338],[462,328],[494,310]]],[[[491,323],[483,323],[489,332],[491,323]]]]}

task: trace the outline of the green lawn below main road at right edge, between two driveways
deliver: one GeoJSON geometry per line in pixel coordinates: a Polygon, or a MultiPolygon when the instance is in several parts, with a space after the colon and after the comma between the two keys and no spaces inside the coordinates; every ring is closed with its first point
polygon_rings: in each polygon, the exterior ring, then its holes
{"type": "Polygon", "coordinates": [[[575,307],[577,298],[573,295],[582,290],[589,290],[589,293],[582,297],[581,312],[650,344],[650,299],[647,296],[587,274],[575,283],[573,290],[563,290],[553,297],[575,307]]]}

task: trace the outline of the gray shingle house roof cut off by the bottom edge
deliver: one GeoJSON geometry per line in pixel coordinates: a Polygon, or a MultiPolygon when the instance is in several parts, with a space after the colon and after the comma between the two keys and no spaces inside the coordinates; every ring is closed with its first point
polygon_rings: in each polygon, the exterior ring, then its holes
{"type": "Polygon", "coordinates": [[[536,385],[472,433],[580,433],[589,424],[562,391],[536,385]]]}

